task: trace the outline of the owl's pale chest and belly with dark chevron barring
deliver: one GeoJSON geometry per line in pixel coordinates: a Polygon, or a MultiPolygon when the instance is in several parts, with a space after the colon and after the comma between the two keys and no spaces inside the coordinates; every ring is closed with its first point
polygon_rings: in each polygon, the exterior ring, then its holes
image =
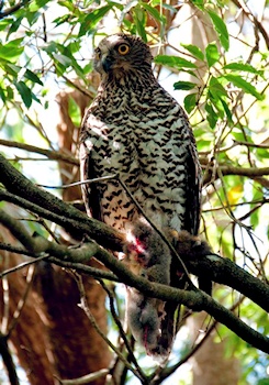
{"type": "MultiPolygon", "coordinates": [[[[89,117],[88,147],[97,177],[117,174],[157,226],[180,230],[184,215],[188,123],[181,108],[143,100],[89,117]],[[168,111],[167,111],[168,110],[168,111]],[[96,123],[94,123],[96,122],[96,123]],[[99,122],[99,123],[98,123],[99,122]],[[101,124],[100,124],[101,122],[101,124]],[[164,216],[164,212],[166,213],[164,216]],[[153,218],[152,218],[153,219],[153,218]]],[[[120,230],[138,216],[116,180],[98,185],[103,220],[120,230]]]]}

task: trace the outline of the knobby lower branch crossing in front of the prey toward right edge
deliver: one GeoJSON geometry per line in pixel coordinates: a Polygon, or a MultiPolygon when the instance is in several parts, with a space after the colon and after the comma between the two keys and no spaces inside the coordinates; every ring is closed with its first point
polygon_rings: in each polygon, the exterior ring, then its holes
{"type": "MultiPolygon", "coordinates": [[[[41,237],[33,239],[33,242],[35,243],[34,249],[38,251],[38,253],[57,253],[57,257],[61,257],[64,261],[71,258],[70,262],[77,262],[81,258],[81,253],[83,255],[87,255],[87,245],[80,246],[78,249],[72,249],[70,253],[69,249],[48,242],[41,237]],[[82,252],[79,249],[83,249],[82,252]]],[[[92,244],[90,244],[88,255],[89,257],[92,256],[92,244]]],[[[176,289],[173,287],[152,283],[146,278],[131,273],[122,262],[117,261],[113,255],[108,253],[104,249],[99,248],[98,245],[96,246],[94,256],[108,268],[110,268],[125,285],[133,286],[149,297],[183,304],[187,307],[199,311],[205,310],[218,322],[225,324],[228,329],[234,331],[243,340],[254,345],[255,348],[269,353],[268,338],[248,327],[233,312],[225,309],[222,305],[217,304],[213,298],[203,292],[176,289]]]]}

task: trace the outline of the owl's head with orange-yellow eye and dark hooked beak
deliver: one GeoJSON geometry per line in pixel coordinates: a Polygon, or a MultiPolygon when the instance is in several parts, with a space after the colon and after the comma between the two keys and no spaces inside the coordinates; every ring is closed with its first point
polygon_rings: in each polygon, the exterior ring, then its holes
{"type": "Polygon", "coordinates": [[[94,51],[94,69],[101,76],[148,68],[152,61],[149,47],[139,37],[122,33],[103,38],[94,51]]]}

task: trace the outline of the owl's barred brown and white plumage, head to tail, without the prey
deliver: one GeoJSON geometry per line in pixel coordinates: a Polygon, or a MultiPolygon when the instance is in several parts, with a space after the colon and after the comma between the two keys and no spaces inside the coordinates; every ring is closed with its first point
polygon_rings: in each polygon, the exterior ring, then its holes
{"type": "MultiPolygon", "coordinates": [[[[195,141],[183,109],[156,80],[152,61],[149,47],[132,35],[109,36],[96,50],[101,84],[81,127],[81,179],[117,174],[159,230],[197,234],[201,169],[195,141]]],[[[117,180],[85,185],[82,193],[89,215],[132,231],[141,213],[117,180]]],[[[170,284],[179,286],[176,270],[170,284]]],[[[170,319],[161,321],[158,343],[165,350],[172,340],[165,329],[171,334],[173,311],[170,304],[170,319]]]]}

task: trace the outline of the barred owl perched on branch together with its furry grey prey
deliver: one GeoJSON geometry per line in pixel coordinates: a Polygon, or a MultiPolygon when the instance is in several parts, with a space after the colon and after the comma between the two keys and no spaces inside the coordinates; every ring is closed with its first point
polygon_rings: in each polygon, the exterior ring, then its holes
{"type": "MultiPolygon", "coordinates": [[[[149,226],[171,242],[182,230],[195,235],[200,221],[201,168],[183,109],[158,84],[149,47],[132,35],[115,34],[94,52],[101,76],[80,136],[81,179],[117,175],[83,185],[88,215],[128,235],[125,263],[149,280],[182,287],[182,268],[149,226]]],[[[150,355],[167,355],[175,336],[175,302],[127,288],[127,319],[150,355]]]]}

